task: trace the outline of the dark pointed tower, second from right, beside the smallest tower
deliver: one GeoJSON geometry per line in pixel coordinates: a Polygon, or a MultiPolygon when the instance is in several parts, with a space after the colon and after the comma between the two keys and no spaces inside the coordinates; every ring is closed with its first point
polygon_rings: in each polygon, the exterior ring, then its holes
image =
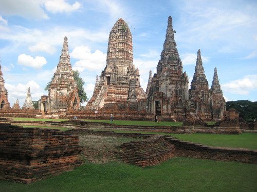
{"type": "Polygon", "coordinates": [[[188,117],[211,119],[209,84],[204,72],[201,51],[198,50],[194,77],[187,101],[188,117]]]}

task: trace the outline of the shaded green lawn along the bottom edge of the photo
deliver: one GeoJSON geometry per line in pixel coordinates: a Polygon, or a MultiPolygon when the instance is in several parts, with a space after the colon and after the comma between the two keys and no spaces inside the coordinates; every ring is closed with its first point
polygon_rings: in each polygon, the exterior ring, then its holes
{"type": "Polygon", "coordinates": [[[85,163],[30,185],[0,180],[1,191],[257,191],[257,165],[173,158],[152,167],[85,163]]]}

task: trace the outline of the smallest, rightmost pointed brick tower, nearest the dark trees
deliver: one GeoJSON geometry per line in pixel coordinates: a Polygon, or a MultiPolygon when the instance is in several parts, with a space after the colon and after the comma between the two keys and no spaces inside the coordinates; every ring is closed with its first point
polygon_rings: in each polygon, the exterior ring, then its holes
{"type": "Polygon", "coordinates": [[[214,69],[212,86],[210,90],[210,97],[211,97],[210,102],[211,102],[212,118],[215,120],[223,119],[226,111],[226,101],[223,97],[221,86],[219,85],[217,68],[214,69]]]}

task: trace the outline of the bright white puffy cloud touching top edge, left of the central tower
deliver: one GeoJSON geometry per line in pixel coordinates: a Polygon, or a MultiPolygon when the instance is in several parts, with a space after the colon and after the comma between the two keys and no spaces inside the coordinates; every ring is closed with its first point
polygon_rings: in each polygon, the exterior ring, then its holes
{"type": "Polygon", "coordinates": [[[51,0],[45,2],[46,10],[52,13],[69,13],[77,11],[81,8],[81,6],[82,5],[79,2],[75,2],[74,4],[70,5],[66,2],[66,0],[51,0]]]}

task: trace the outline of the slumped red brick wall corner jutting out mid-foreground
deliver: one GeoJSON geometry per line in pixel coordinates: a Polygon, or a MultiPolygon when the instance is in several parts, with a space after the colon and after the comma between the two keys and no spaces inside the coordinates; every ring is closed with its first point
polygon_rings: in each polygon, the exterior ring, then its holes
{"type": "Polygon", "coordinates": [[[154,135],[144,141],[123,143],[119,155],[124,163],[141,167],[159,164],[174,155],[174,145],[163,136],[154,135]]]}

